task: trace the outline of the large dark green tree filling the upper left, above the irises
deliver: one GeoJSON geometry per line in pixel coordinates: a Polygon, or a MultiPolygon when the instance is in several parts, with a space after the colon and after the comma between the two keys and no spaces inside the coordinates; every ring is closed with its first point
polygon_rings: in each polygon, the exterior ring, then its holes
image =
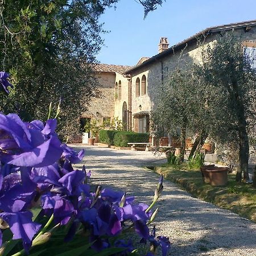
{"type": "Polygon", "coordinates": [[[3,1],[0,65],[15,88],[0,98],[1,112],[46,120],[49,103],[56,113],[61,97],[59,133],[78,133],[79,117],[97,86],[92,63],[102,44],[98,19],[114,2],[3,1]]]}

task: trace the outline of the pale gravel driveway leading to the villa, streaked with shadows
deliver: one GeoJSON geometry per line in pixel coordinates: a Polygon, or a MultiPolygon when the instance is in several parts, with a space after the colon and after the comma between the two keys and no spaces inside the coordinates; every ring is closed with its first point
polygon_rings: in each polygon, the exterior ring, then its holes
{"type": "MultiPolygon", "coordinates": [[[[143,167],[163,162],[164,156],[97,146],[84,148],[81,165],[92,170],[93,184],[122,189],[135,195],[137,201],[151,202],[159,175],[143,167]]],[[[164,181],[158,207],[157,235],[170,238],[170,255],[256,255],[256,224],[195,199],[170,181],[164,181]]]]}

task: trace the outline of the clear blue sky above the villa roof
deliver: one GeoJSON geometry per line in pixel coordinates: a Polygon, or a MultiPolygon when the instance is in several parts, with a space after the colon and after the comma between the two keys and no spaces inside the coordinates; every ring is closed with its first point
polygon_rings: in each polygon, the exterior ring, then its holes
{"type": "Polygon", "coordinates": [[[120,0],[101,16],[105,40],[100,63],[135,65],[158,53],[160,37],[170,46],[207,27],[256,19],[255,0],[166,0],[144,18],[135,0],[120,0]]]}

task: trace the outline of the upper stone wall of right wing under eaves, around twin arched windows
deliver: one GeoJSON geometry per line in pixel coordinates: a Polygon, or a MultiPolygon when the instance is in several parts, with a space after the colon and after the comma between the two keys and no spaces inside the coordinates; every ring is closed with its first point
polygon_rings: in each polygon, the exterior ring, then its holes
{"type": "MultiPolygon", "coordinates": [[[[245,32],[244,28],[234,30],[234,34],[242,40],[249,43],[256,42],[256,28],[251,27],[251,30],[245,32]]],[[[213,42],[220,36],[220,34],[208,35],[205,39],[205,44],[213,44],[213,42]]],[[[170,73],[177,65],[184,65],[195,61],[200,63],[202,46],[199,46],[197,42],[189,44],[183,49],[182,60],[180,58],[181,51],[177,50],[174,53],[170,53],[168,56],[156,60],[154,63],[141,67],[131,73],[131,85],[132,85],[132,98],[131,98],[131,110],[132,113],[137,113],[142,110],[151,110],[154,108],[154,101],[157,97],[159,90],[161,90],[162,84],[168,82],[168,73],[170,73]],[[141,80],[141,77],[146,75],[147,79],[147,94],[140,97],[135,97],[135,81],[137,77],[141,80]],[[139,106],[141,105],[141,109],[139,106]]]]}

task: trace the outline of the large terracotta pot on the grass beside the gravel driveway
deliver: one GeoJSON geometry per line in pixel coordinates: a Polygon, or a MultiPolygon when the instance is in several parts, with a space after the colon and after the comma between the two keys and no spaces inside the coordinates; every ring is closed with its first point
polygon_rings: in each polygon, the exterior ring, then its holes
{"type": "Polygon", "coordinates": [[[205,179],[212,186],[223,186],[228,183],[228,167],[209,167],[203,171],[205,179]]]}

